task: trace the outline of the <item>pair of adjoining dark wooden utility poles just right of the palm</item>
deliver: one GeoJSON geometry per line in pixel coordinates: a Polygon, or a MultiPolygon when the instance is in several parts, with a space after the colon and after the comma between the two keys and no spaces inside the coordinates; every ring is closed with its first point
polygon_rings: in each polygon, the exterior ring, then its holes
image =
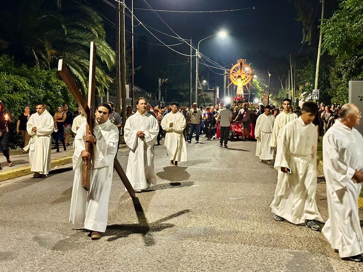
{"type": "Polygon", "coordinates": [[[126,120],[126,61],[125,61],[125,6],[118,2],[116,35],[116,112],[122,107],[122,120],[126,120]],[[120,103],[121,102],[121,103],[120,103]]]}

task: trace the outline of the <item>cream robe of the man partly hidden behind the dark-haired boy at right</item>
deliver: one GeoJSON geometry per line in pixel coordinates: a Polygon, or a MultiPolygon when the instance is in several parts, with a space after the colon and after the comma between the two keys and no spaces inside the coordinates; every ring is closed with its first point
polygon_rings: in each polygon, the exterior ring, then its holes
{"type": "MultiPolygon", "coordinates": [[[[298,116],[294,113],[289,112],[288,114],[284,111],[280,112],[275,118],[273,130],[272,130],[272,137],[270,140],[270,146],[276,148],[276,158],[275,158],[275,164],[276,165],[281,163],[281,148],[279,150],[279,146],[281,146],[281,133],[284,129],[285,125],[289,123],[291,120],[297,119],[298,116]]],[[[280,173],[279,173],[280,175],[280,173]]]]}

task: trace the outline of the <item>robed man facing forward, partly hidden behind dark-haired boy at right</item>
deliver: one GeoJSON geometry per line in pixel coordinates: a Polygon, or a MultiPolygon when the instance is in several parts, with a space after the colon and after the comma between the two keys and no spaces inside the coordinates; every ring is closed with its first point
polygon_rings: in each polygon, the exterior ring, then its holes
{"type": "MultiPolygon", "coordinates": [[[[273,130],[272,130],[272,137],[270,140],[270,147],[272,149],[277,149],[276,151],[276,158],[274,167],[278,167],[278,164],[281,163],[281,148],[279,150],[279,145],[281,145],[281,133],[284,129],[285,125],[289,123],[291,120],[297,119],[298,116],[294,113],[290,112],[291,108],[291,100],[285,98],[282,102],[282,106],[284,107],[284,111],[280,112],[275,118],[273,130]]],[[[278,176],[280,175],[281,171],[278,170],[278,176]]]]}

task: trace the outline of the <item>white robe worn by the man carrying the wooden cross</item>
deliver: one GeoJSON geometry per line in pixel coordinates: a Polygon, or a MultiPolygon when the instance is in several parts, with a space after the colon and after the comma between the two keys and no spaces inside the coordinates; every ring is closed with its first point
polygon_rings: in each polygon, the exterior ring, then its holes
{"type": "Polygon", "coordinates": [[[82,123],[74,138],[73,153],[73,190],[70,203],[69,222],[84,222],[84,228],[105,232],[111,192],[113,161],[117,152],[118,129],[107,119],[101,125],[95,120],[93,135],[97,140],[93,145],[91,158],[90,190],[82,187],[83,169],[85,166],[81,152],[85,150],[86,123],[82,123]]]}

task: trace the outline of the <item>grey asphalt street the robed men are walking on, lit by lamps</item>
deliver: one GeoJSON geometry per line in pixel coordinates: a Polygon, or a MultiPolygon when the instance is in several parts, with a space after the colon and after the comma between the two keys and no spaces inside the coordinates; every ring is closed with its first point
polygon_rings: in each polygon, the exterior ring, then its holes
{"type": "MultiPolygon", "coordinates": [[[[0,270],[363,271],[341,261],[321,233],[273,220],[277,172],[258,162],[255,145],[238,141],[226,150],[203,137],[188,144],[178,168],[163,145],[155,147],[158,185],[137,194],[149,231],[115,174],[109,224],[97,241],[68,223],[70,165],[46,180],[2,182],[0,270]]],[[[118,156],[125,170],[127,153],[118,156]]]]}

